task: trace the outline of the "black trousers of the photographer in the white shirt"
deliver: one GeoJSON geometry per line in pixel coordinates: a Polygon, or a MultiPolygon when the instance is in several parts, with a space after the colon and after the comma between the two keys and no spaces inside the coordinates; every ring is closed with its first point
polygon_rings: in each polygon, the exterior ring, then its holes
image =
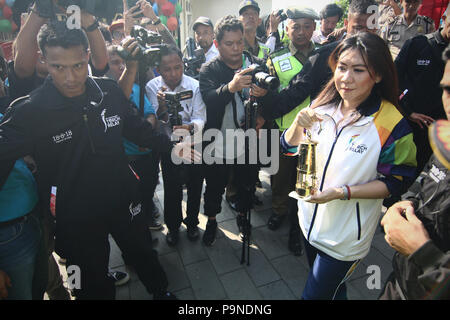
{"type": "Polygon", "coordinates": [[[203,187],[203,167],[200,164],[175,165],[170,153],[161,154],[161,168],[164,181],[164,223],[169,230],[177,230],[183,221],[181,203],[183,184],[187,187],[187,218],[184,223],[198,225],[198,214],[203,187]]]}

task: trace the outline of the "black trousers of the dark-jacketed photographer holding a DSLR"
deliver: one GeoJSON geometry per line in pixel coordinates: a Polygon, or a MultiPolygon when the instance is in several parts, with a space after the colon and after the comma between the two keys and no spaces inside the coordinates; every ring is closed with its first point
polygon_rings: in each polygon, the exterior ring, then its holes
{"type": "Polygon", "coordinates": [[[255,183],[258,177],[258,165],[243,164],[211,164],[203,165],[206,190],[204,194],[205,215],[215,217],[222,211],[222,196],[229,180],[231,170],[236,187],[237,209],[245,212],[252,207],[255,194],[255,183]]]}

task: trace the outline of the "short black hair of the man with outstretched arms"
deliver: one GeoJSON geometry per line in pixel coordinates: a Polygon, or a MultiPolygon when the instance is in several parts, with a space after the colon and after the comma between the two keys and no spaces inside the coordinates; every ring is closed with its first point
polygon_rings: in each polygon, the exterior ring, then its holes
{"type": "Polygon", "coordinates": [[[89,49],[89,41],[82,29],[68,29],[65,22],[44,24],[37,36],[39,49],[42,55],[46,55],[46,47],[63,47],[69,49],[82,46],[86,52],[89,49]]]}

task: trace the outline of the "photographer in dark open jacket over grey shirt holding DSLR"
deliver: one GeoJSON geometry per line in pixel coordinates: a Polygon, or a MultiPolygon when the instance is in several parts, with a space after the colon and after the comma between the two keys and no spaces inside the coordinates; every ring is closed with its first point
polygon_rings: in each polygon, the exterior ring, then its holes
{"type": "MultiPolygon", "coordinates": [[[[234,141],[226,140],[226,131],[242,127],[245,118],[244,102],[249,98],[250,88],[255,90],[252,92],[254,94],[261,94],[261,91],[264,94],[267,93],[267,90],[253,84],[251,73],[254,69],[248,67],[253,63],[264,65],[264,62],[244,51],[242,23],[234,16],[223,17],[216,24],[214,33],[219,56],[203,65],[200,70],[200,91],[206,104],[208,119],[205,129],[220,130],[223,145],[215,143],[214,146],[217,153],[220,153],[219,149],[223,149],[224,152],[214,155],[218,160],[216,163],[204,165],[206,179],[204,212],[208,216],[208,223],[203,242],[208,246],[211,246],[216,238],[216,215],[222,211],[222,196],[232,168],[235,169],[238,209],[241,213],[237,218],[237,224],[240,229],[243,226],[244,210],[240,206],[243,200],[250,198],[249,192],[250,195],[254,194],[257,170],[252,170],[252,166],[248,165],[224,164],[224,160],[235,162],[237,156],[234,152],[231,155],[225,152],[224,146],[234,143],[234,141]],[[253,188],[253,193],[251,193],[252,190],[244,190],[246,186],[253,188]]],[[[264,110],[260,109],[260,111],[264,110]]],[[[264,122],[264,118],[259,116],[255,129],[260,129],[264,122]]]]}

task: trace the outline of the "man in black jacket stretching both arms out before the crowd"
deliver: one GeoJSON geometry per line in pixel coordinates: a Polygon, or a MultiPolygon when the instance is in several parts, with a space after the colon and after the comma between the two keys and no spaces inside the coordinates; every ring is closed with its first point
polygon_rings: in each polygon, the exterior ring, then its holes
{"type": "Polygon", "coordinates": [[[49,77],[16,100],[0,124],[0,187],[11,164],[32,155],[42,206],[56,221],[55,251],[77,266],[79,299],[114,299],[107,276],[112,234],[154,298],[168,299],[168,281],[150,243],[122,137],[142,147],[170,149],[112,80],[88,77],[81,29],[44,25],[38,35],[49,77]]]}

